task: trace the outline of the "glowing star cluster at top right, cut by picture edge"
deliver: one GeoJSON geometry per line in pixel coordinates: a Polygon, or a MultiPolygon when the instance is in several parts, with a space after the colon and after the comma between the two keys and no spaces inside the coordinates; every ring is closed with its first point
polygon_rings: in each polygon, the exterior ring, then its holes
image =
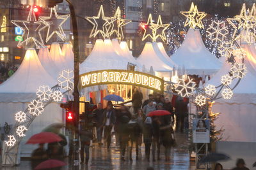
{"type": "Polygon", "coordinates": [[[256,8],[253,4],[251,10],[246,10],[245,4],[239,15],[234,18],[227,18],[228,23],[235,29],[233,38],[246,41],[249,45],[255,42],[256,8]],[[237,35],[237,33],[239,33],[237,35]]]}

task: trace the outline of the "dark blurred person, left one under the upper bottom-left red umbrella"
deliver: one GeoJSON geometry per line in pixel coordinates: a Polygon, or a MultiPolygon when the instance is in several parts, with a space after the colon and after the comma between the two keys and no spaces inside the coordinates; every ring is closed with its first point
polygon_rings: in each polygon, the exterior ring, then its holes
{"type": "Polygon", "coordinates": [[[31,167],[35,169],[38,164],[48,159],[47,152],[44,150],[44,143],[40,143],[31,155],[31,167]]]}

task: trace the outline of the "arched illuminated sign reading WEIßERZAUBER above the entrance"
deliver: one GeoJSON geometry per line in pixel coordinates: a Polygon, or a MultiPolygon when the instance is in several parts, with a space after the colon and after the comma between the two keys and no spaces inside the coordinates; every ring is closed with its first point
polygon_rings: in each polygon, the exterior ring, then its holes
{"type": "Polygon", "coordinates": [[[163,92],[164,80],[151,74],[123,69],[107,69],[81,74],[81,87],[106,84],[125,84],[145,87],[147,89],[163,92]]]}

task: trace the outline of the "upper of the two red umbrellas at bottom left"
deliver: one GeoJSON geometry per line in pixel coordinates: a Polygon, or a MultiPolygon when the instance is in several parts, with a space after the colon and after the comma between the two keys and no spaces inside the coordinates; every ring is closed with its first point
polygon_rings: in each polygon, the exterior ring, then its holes
{"type": "Polygon", "coordinates": [[[26,144],[52,143],[62,140],[63,139],[60,136],[58,136],[58,134],[54,134],[52,132],[40,132],[38,134],[31,136],[31,138],[28,139],[26,144]]]}

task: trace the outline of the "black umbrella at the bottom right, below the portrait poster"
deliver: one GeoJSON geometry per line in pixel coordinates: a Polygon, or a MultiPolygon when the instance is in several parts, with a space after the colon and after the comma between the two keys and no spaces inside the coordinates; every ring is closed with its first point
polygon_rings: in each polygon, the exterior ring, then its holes
{"type": "Polygon", "coordinates": [[[199,160],[199,164],[211,163],[211,162],[218,162],[220,160],[229,160],[230,157],[223,153],[209,153],[205,157],[199,160]]]}

